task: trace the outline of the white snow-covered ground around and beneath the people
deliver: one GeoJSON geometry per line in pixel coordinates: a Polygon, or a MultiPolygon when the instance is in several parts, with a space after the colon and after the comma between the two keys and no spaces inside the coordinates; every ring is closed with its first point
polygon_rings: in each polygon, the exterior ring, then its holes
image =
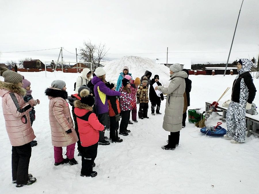
{"type": "MultiPolygon", "coordinates": [[[[121,64],[113,72],[106,70],[107,80],[117,80],[123,66],[121,64]]],[[[145,67],[129,69],[133,78],[142,76],[146,70],[145,67]]],[[[151,72],[156,74],[153,69],[151,72]]],[[[162,75],[162,70],[157,73],[159,81],[166,84],[169,75],[162,75]]],[[[163,114],[152,116],[150,109],[149,119],[129,125],[131,133],[128,136],[120,135],[122,143],[98,147],[94,167],[98,172],[96,177],[80,176],[81,157],[77,156],[77,150],[75,159],[78,165],[54,166],[48,119],[49,100],[44,91],[53,80],[61,79],[66,82],[68,94],[71,95],[79,74],[56,72],[56,78],[53,72],[47,72],[47,77],[45,72],[21,74],[31,81],[33,97],[41,101],[35,107],[36,120],[33,123],[38,145],[32,148],[29,166],[29,173],[37,178],[37,182],[21,188],[12,184],[12,147],[0,108],[0,193],[258,193],[258,137],[252,135],[246,138],[245,143],[231,144],[223,137],[204,136],[194,124],[186,122],[186,127],[180,132],[180,144],[176,150],[163,150],[161,146],[166,145],[169,135],[162,128],[163,114]]],[[[232,88],[235,75],[191,75],[189,78],[193,83],[191,106],[188,108],[201,108],[203,111],[205,101],[216,101],[226,87],[232,88]]],[[[254,83],[259,90],[259,80],[254,80],[254,83]]],[[[222,101],[230,99],[230,93],[222,101]]],[[[258,94],[254,102],[259,105],[258,94]]],[[[161,104],[162,113],[164,109],[165,100],[161,104]]],[[[213,113],[207,124],[215,126],[219,118],[217,113],[213,113]]],[[[226,123],[222,127],[226,128],[226,123]]],[[[109,137],[108,133],[106,131],[105,135],[109,137]]]]}

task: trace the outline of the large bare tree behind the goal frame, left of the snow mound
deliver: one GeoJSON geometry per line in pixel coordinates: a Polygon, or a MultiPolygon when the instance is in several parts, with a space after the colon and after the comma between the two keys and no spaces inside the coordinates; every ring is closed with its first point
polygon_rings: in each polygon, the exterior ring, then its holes
{"type": "Polygon", "coordinates": [[[106,48],[105,44],[99,43],[99,45],[95,45],[90,40],[88,42],[84,41],[83,44],[84,47],[80,48],[80,59],[84,62],[92,62],[99,67],[109,49],[106,48]]]}

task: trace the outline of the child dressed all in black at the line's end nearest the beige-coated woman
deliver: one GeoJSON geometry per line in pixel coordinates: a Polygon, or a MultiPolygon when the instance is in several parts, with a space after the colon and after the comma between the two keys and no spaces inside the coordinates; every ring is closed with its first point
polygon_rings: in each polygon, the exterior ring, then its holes
{"type": "Polygon", "coordinates": [[[155,106],[157,105],[156,109],[156,114],[162,114],[159,112],[160,110],[160,105],[161,105],[161,100],[164,100],[163,93],[160,94],[160,97],[157,96],[157,93],[155,92],[155,89],[153,87],[153,84],[156,82],[157,85],[161,86],[162,84],[158,81],[159,76],[155,75],[154,78],[150,82],[150,87],[149,87],[149,100],[151,101],[151,114],[155,115],[155,106]]]}

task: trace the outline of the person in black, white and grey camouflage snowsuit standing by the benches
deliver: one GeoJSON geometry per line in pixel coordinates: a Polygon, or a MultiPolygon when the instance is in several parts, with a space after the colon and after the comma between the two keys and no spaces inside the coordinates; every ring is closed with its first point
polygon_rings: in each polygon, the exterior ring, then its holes
{"type": "Polygon", "coordinates": [[[240,59],[242,68],[236,77],[231,95],[231,103],[226,113],[227,136],[233,137],[237,142],[245,141],[245,114],[246,109],[250,109],[255,98],[256,88],[249,71],[252,68],[252,61],[240,59]]]}

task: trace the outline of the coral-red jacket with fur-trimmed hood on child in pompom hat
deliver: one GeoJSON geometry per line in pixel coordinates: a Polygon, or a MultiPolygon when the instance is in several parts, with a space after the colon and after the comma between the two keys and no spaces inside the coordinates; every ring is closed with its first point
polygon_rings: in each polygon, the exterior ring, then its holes
{"type": "Polygon", "coordinates": [[[99,131],[103,131],[104,126],[98,121],[96,114],[91,113],[92,107],[80,100],[75,100],[74,106],[81,145],[88,147],[96,144],[99,141],[99,131]]]}

